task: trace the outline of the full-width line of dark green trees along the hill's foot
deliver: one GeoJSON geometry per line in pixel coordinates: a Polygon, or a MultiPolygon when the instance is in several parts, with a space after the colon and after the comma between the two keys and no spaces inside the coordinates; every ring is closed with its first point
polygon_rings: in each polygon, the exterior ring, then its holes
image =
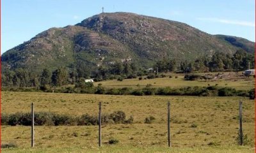
{"type": "Polygon", "coordinates": [[[15,70],[4,69],[1,79],[3,87],[40,87],[46,89],[51,86],[62,86],[84,82],[84,78],[94,78],[95,81],[123,78],[136,78],[150,73],[177,72],[192,73],[209,71],[244,71],[248,69],[248,64],[254,68],[254,55],[237,50],[234,55],[216,52],[211,57],[199,57],[195,61],[182,61],[177,64],[175,59],[163,59],[157,61],[153,66],[153,71],[140,68],[135,62],[115,62],[108,66],[99,66],[97,69],[90,69],[83,62],[69,68],[57,68],[54,71],[43,69],[39,74],[29,69],[18,68],[15,70]]]}

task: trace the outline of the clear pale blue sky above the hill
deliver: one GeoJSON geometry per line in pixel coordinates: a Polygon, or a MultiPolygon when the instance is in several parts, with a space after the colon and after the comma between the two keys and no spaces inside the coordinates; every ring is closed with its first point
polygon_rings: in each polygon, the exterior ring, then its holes
{"type": "Polygon", "coordinates": [[[124,11],[189,24],[255,42],[254,0],[1,0],[1,54],[51,27],[124,11]]]}

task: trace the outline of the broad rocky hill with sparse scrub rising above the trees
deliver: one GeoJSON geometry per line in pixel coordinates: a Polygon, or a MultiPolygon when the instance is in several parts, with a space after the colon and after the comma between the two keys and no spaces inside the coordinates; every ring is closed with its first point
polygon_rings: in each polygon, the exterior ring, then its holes
{"type": "Polygon", "coordinates": [[[3,68],[32,71],[81,63],[92,71],[100,65],[124,61],[150,68],[163,58],[191,61],[214,52],[233,54],[246,47],[252,52],[254,46],[250,44],[237,45],[172,20],[134,13],[100,13],[76,25],[48,29],[8,50],[1,60],[3,68]]]}

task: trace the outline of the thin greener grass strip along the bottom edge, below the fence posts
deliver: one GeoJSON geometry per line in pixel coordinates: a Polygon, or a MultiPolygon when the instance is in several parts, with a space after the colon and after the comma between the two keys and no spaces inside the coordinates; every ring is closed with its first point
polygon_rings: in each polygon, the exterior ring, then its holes
{"type": "Polygon", "coordinates": [[[239,147],[239,146],[229,146],[229,147],[192,147],[192,148],[167,148],[167,147],[131,147],[131,146],[106,146],[102,148],[87,148],[87,147],[72,147],[72,148],[35,148],[35,149],[3,149],[3,152],[173,152],[173,153],[253,153],[254,148],[252,147],[239,147]]]}

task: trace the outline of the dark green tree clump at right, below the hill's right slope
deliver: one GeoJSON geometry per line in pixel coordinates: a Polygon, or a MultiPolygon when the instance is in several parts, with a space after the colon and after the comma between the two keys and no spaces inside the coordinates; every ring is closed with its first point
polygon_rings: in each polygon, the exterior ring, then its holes
{"type": "Polygon", "coordinates": [[[254,55],[244,50],[237,50],[234,55],[216,52],[211,57],[199,57],[195,61],[182,61],[180,64],[177,64],[175,59],[163,59],[156,62],[154,69],[159,72],[176,71],[180,73],[244,71],[248,69],[249,62],[250,69],[253,69],[254,55]]]}

